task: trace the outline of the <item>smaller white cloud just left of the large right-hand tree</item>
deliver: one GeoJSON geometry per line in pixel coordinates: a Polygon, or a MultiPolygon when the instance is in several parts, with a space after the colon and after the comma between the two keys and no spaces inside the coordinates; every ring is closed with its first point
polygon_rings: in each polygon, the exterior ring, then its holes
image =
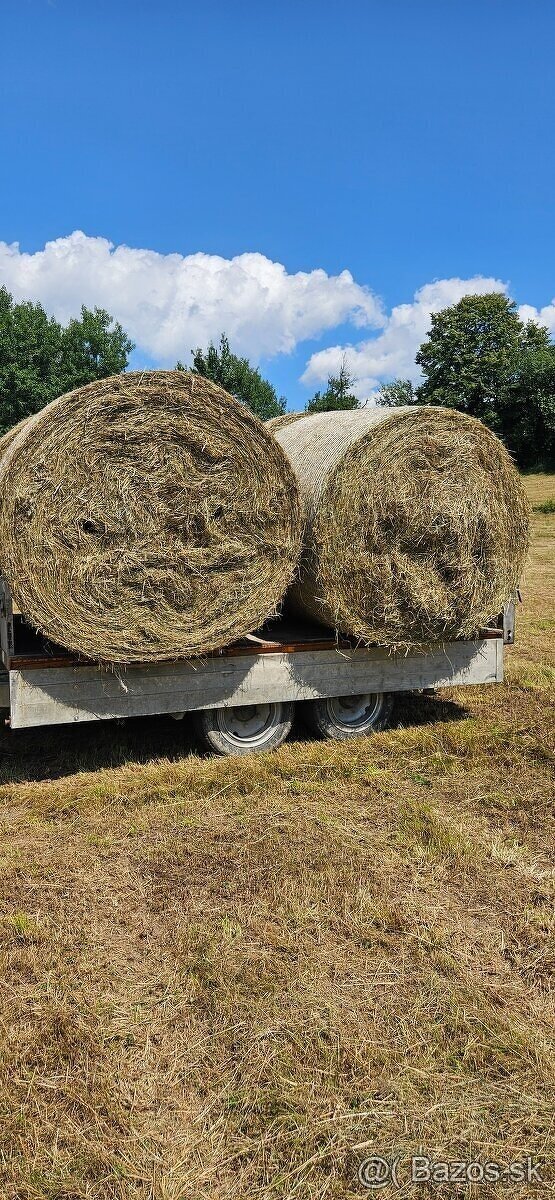
{"type": "Polygon", "coordinates": [[[312,354],[303,382],[308,385],[323,383],[336,373],[346,355],[348,370],[356,380],[359,398],[371,397],[381,382],[393,378],[420,378],[414,356],[430,329],[430,317],[465,295],[487,292],[507,293],[501,280],[476,275],[470,280],[436,280],[425,283],[414,294],[412,304],[400,304],[392,308],[382,331],[376,336],[352,346],[332,346],[312,354]]]}

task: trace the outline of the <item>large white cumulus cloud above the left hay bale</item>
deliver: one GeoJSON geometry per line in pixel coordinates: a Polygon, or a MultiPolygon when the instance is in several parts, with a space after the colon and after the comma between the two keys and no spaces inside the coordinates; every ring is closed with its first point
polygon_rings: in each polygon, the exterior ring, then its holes
{"type": "Polygon", "coordinates": [[[72,233],[36,253],[0,242],[0,284],[66,322],[80,305],[107,308],[161,366],[225,331],[253,359],[288,353],[345,322],[381,328],[381,304],[350,271],[290,275],[263,254],[159,254],[72,233]]]}

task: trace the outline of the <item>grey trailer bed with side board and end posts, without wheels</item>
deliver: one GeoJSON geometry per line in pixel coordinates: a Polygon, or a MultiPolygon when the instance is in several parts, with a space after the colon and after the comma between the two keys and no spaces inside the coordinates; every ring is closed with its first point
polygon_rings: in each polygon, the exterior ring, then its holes
{"type": "Polygon", "coordinates": [[[514,602],[472,641],[419,653],[357,646],[284,620],[205,658],[106,667],[41,640],[14,611],[0,577],[0,707],[13,730],[501,683],[503,643],[514,640],[514,602]],[[26,636],[26,647],[25,643],[26,636]],[[35,638],[35,642],[32,642],[35,638]],[[29,641],[31,644],[29,646],[29,641]]]}

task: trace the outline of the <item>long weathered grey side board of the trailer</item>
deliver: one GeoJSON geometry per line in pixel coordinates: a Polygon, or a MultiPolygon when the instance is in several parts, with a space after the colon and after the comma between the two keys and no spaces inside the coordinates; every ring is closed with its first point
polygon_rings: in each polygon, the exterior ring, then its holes
{"type": "Polygon", "coordinates": [[[431,646],[422,654],[318,649],[245,654],[125,670],[95,666],[13,668],[12,728],[374,691],[500,683],[500,637],[431,646]]]}

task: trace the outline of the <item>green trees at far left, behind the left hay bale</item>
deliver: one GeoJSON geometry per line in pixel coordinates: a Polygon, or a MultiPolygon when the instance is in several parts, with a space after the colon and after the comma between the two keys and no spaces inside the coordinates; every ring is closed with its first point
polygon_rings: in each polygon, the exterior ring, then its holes
{"type": "Polygon", "coordinates": [[[71,388],[123,371],[132,348],[103,310],[82,308],[64,328],[0,288],[0,433],[71,388]]]}

